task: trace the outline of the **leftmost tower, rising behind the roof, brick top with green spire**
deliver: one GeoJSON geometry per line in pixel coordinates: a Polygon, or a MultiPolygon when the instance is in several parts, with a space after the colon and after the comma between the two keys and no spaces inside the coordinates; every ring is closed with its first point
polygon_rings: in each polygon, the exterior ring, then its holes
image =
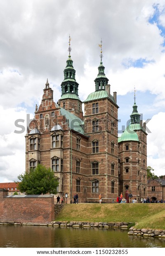
{"type": "Polygon", "coordinates": [[[75,69],[71,59],[71,37],[69,36],[68,59],[64,69],[64,81],[61,83],[60,107],[82,118],[82,101],[78,97],[78,83],[75,80],[75,69]]]}

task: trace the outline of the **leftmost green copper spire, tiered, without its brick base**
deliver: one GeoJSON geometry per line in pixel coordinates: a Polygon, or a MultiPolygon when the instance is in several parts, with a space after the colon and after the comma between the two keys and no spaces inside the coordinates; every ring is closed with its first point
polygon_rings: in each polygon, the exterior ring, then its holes
{"type": "Polygon", "coordinates": [[[64,69],[64,81],[61,83],[61,96],[68,93],[78,96],[78,83],[75,81],[75,69],[73,68],[73,60],[71,59],[71,50],[71,37],[69,35],[69,55],[66,61],[66,68],[64,69]]]}

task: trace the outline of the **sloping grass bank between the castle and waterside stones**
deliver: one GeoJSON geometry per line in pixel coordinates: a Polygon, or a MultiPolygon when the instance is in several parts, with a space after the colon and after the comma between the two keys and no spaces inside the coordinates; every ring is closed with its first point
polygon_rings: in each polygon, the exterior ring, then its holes
{"type": "Polygon", "coordinates": [[[165,230],[164,204],[65,204],[55,221],[134,222],[165,230]]]}

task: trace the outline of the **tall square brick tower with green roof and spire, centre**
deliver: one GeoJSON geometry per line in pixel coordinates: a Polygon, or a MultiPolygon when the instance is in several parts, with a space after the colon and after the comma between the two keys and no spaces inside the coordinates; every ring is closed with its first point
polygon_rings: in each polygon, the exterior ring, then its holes
{"type": "Polygon", "coordinates": [[[116,92],[111,95],[104,73],[102,41],[99,47],[101,61],[94,80],[95,91],[84,101],[85,135],[89,137],[88,187],[92,187],[88,198],[95,201],[94,193],[99,192],[106,202],[112,203],[118,195],[118,105],[116,92]]]}

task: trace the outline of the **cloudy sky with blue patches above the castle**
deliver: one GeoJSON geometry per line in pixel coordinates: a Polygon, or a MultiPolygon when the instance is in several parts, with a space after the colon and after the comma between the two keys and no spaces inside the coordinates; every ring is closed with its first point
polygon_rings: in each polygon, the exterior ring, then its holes
{"type": "Polygon", "coordinates": [[[165,1],[0,0],[0,182],[25,171],[26,127],[47,78],[54,101],[61,97],[69,35],[80,99],[95,90],[102,39],[119,136],[135,88],[148,132],[147,165],[165,175],[165,1]]]}

